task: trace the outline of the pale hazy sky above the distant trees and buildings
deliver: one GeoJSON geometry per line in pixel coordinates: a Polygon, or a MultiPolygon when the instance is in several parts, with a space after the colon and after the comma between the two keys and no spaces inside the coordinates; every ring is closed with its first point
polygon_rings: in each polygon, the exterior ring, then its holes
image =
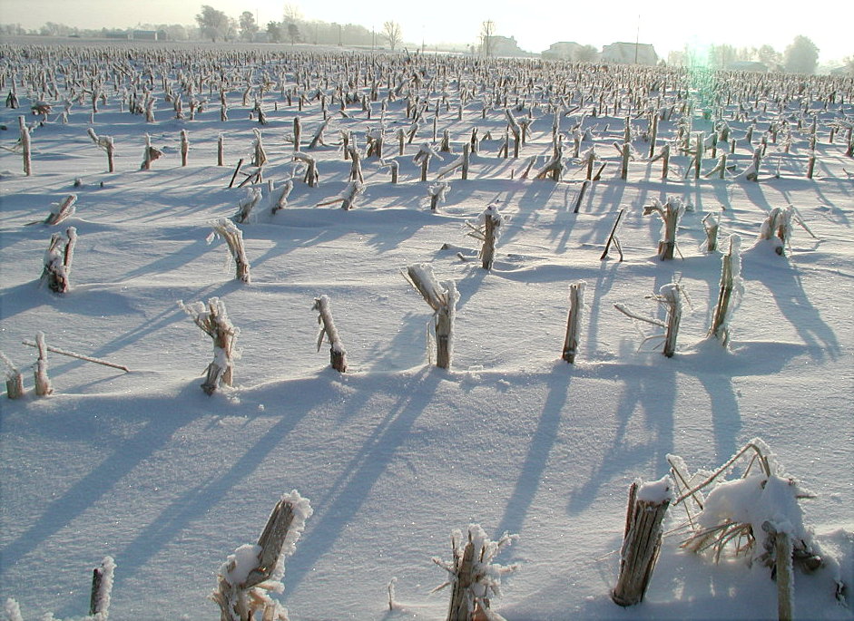
{"type": "MultiPolygon", "coordinates": [[[[258,15],[260,24],[280,21],[284,2],[271,0],[0,0],[0,23],[36,28],[44,22],[72,26],[127,27],[136,24],[193,24],[202,4],[228,15],[243,11],[258,15]]],[[[432,43],[476,43],[480,24],[491,19],[496,34],[515,36],[522,49],[542,52],[557,41],[576,41],[601,48],[614,41],[633,42],[640,26],[641,43],[650,43],[666,57],[683,45],[732,44],[737,47],[770,44],[779,52],[803,34],[818,45],[820,62],[854,55],[850,24],[854,9],[848,2],[820,3],[825,8],[793,0],[763,2],[664,2],[663,0],[537,0],[474,3],[460,0],[309,0],[294,1],[306,19],[339,24],[362,24],[378,31],[387,20],[403,28],[404,40],[432,43]],[[836,8],[832,8],[836,5],[836,8]],[[484,6],[488,6],[485,9],[484,6]],[[702,12],[692,11],[701,6],[702,12]],[[429,8],[426,8],[429,7],[429,8]],[[722,15],[726,14],[726,16],[722,15]],[[847,32],[846,32],[847,31],[847,32]]]]}

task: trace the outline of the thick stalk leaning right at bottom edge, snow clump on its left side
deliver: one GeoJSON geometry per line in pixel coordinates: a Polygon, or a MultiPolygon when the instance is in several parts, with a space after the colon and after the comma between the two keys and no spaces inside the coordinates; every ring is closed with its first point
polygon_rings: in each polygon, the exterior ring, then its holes
{"type": "Polygon", "coordinates": [[[270,597],[281,593],[285,558],[296,549],[312,509],[297,490],[285,494],[270,513],[258,543],[234,550],[221,566],[211,598],[220,606],[221,621],[287,621],[288,610],[270,597]]]}

